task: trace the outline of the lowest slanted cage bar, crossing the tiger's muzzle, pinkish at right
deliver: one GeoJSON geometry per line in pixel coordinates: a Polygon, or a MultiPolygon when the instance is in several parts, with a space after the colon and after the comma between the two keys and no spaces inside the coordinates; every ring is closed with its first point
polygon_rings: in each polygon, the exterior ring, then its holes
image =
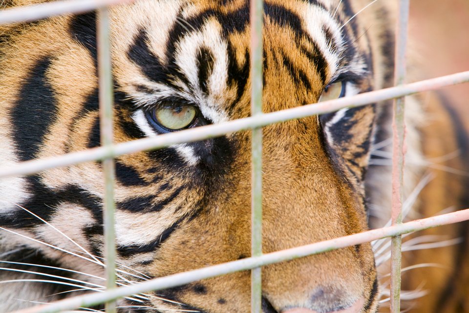
{"type": "Polygon", "coordinates": [[[20,310],[15,313],[57,313],[64,310],[78,309],[79,307],[91,307],[106,301],[112,301],[117,298],[129,296],[132,294],[173,288],[189,284],[194,281],[199,281],[201,279],[213,278],[236,271],[251,270],[260,266],[289,261],[312,254],[355,246],[385,237],[392,237],[413,231],[425,230],[432,227],[458,223],[466,220],[469,220],[469,209],[411,221],[381,229],[368,230],[336,239],[267,253],[261,256],[217,264],[193,271],[186,271],[165,277],[154,278],[140,284],[119,287],[117,289],[106,292],[93,292],[35,308],[20,310]]]}

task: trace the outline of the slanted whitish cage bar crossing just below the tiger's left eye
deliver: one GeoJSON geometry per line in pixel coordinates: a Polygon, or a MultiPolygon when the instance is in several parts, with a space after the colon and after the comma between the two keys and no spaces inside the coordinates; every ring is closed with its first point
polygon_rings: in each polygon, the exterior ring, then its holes
{"type": "Polygon", "coordinates": [[[29,175],[54,167],[65,167],[144,150],[161,149],[175,144],[205,140],[235,131],[263,127],[311,115],[334,112],[344,107],[357,107],[365,104],[377,103],[396,97],[466,82],[469,82],[469,71],[441,76],[417,83],[409,83],[362,93],[353,97],[324,101],[318,104],[307,104],[273,113],[265,113],[259,116],[181,130],[158,135],[152,138],[133,140],[111,147],[97,147],[60,156],[43,158],[41,160],[25,161],[8,167],[0,167],[0,178],[7,176],[29,175]]]}

